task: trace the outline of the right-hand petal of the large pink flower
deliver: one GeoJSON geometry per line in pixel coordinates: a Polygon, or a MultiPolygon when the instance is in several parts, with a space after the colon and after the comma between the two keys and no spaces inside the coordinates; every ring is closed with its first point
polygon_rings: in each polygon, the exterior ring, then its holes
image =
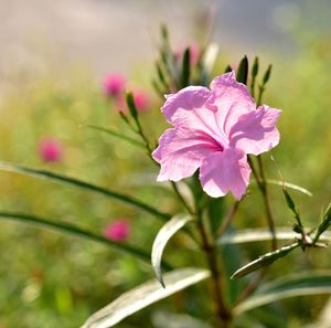
{"type": "Polygon", "coordinates": [[[229,145],[253,155],[276,147],[279,142],[276,123],[280,113],[279,109],[264,105],[243,115],[231,129],[229,145]]]}

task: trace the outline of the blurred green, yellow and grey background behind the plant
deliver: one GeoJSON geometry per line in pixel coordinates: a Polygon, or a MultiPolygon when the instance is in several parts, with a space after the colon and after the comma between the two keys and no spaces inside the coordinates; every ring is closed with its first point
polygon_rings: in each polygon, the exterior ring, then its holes
{"type": "MultiPolygon", "coordinates": [[[[167,186],[154,182],[157,168],[142,152],[87,127],[129,134],[118,116],[124,104],[111,93],[131,88],[150,139],[158,139],[166,124],[151,80],[159,28],[166,23],[174,52],[188,45],[199,50],[209,41],[218,44],[214,75],[228,63],[235,67],[244,54],[250,62],[258,55],[261,72],[273,63],[265,103],[284,113],[281,142],[273,154],[276,163],[265,157],[268,177],[278,179],[280,169],[287,181],[313,193],[308,198],[292,192],[309,226],[330,202],[329,0],[0,0],[0,20],[1,160],[84,178],[164,211],[180,210],[167,186]],[[109,76],[116,77],[115,89],[109,76]]],[[[151,215],[88,192],[7,172],[0,172],[0,179],[1,211],[70,222],[147,251],[161,226],[151,215]]],[[[250,189],[236,228],[265,222],[258,190],[250,189]]],[[[271,195],[277,224],[290,226],[280,189],[275,187],[271,195]]],[[[233,199],[226,201],[231,204],[233,199]]],[[[261,251],[260,245],[247,250],[241,252],[245,261],[261,251]]],[[[153,277],[150,266],[103,245],[8,221],[0,221],[0,328],[79,327],[93,311],[153,277]]],[[[179,237],[166,257],[178,266],[202,264],[179,237]],[[183,253],[171,252],[179,246],[183,253]]],[[[293,267],[327,268],[329,258],[329,251],[320,255],[311,250],[275,264],[273,275],[293,267]]],[[[171,328],[170,314],[204,319],[209,305],[194,290],[189,288],[118,327],[171,328]]],[[[319,316],[324,300],[289,299],[273,305],[273,313],[270,307],[253,311],[239,327],[302,327],[319,316]]]]}

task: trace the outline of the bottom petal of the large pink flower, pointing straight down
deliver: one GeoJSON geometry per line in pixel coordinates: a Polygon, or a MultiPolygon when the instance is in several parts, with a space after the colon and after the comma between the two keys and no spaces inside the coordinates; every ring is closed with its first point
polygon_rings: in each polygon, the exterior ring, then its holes
{"type": "Polygon", "coordinates": [[[231,190],[239,200],[248,186],[249,174],[250,167],[245,152],[235,148],[210,155],[200,168],[203,190],[214,198],[225,195],[231,190]]]}

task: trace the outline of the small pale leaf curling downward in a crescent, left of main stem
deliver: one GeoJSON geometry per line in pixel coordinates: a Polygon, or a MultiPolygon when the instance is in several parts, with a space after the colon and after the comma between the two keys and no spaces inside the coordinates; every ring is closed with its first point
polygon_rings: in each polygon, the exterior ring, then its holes
{"type": "Polygon", "coordinates": [[[173,216],[170,221],[168,221],[159,231],[152,246],[151,253],[151,263],[157,274],[157,277],[160,284],[166,288],[162,271],[161,271],[161,260],[163,250],[168,243],[168,241],[180,230],[182,229],[188,222],[192,221],[193,219],[189,215],[179,214],[173,216]]]}

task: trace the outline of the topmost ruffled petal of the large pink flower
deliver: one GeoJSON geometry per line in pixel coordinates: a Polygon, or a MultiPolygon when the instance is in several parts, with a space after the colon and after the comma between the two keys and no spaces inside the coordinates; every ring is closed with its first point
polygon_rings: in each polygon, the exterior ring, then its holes
{"type": "Polygon", "coordinates": [[[236,81],[234,71],[215,77],[211,91],[206,107],[217,113],[218,124],[226,135],[242,115],[256,109],[247,86],[236,81]]]}

